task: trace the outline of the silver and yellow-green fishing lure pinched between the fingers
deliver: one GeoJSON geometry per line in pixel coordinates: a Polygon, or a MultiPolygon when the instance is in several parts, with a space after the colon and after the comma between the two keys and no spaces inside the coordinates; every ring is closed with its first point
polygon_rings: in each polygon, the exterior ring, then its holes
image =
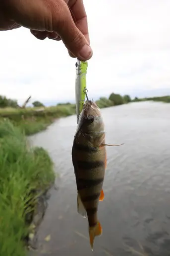
{"type": "Polygon", "coordinates": [[[86,97],[87,67],[88,67],[87,61],[80,61],[77,59],[76,80],[75,80],[75,101],[76,101],[77,124],[78,124],[79,115],[83,109],[83,104],[86,97]]]}

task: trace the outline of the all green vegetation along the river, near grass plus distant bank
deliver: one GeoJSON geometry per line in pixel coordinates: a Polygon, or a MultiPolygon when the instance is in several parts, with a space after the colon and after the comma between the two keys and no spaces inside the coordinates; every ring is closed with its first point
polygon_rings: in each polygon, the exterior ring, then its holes
{"type": "MultiPolygon", "coordinates": [[[[26,256],[47,207],[46,193],[55,181],[48,152],[30,147],[26,136],[75,114],[75,104],[69,102],[45,107],[35,101],[33,107],[26,107],[29,99],[19,106],[16,100],[0,96],[0,256],[26,256]]],[[[131,99],[112,93],[96,103],[106,108],[146,100],[170,102],[170,96],[131,99]]]]}

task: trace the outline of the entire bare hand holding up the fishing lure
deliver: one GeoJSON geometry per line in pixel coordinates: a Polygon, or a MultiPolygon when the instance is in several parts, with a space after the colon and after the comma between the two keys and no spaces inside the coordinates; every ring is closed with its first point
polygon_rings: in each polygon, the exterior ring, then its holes
{"type": "Polygon", "coordinates": [[[0,30],[21,26],[40,40],[62,40],[73,58],[93,55],[83,0],[0,0],[0,30]]]}

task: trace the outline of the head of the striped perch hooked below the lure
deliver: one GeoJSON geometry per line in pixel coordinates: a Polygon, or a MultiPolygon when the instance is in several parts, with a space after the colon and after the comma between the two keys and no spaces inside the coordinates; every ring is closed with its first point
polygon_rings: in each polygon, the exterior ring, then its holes
{"type": "Polygon", "coordinates": [[[100,133],[105,130],[101,110],[94,101],[85,102],[79,116],[79,127],[83,133],[100,133]]]}

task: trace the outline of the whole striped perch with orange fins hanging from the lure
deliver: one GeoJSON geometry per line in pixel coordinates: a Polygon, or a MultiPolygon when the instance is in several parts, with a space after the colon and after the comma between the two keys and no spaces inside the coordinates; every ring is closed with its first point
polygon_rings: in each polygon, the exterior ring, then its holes
{"type": "MultiPolygon", "coordinates": [[[[122,145],[122,144],[120,144],[122,145]]],[[[103,182],[107,167],[105,124],[100,108],[87,100],[79,116],[72,146],[72,164],[77,185],[77,211],[88,217],[90,245],[102,235],[98,204],[104,200],[103,182]]]]}

